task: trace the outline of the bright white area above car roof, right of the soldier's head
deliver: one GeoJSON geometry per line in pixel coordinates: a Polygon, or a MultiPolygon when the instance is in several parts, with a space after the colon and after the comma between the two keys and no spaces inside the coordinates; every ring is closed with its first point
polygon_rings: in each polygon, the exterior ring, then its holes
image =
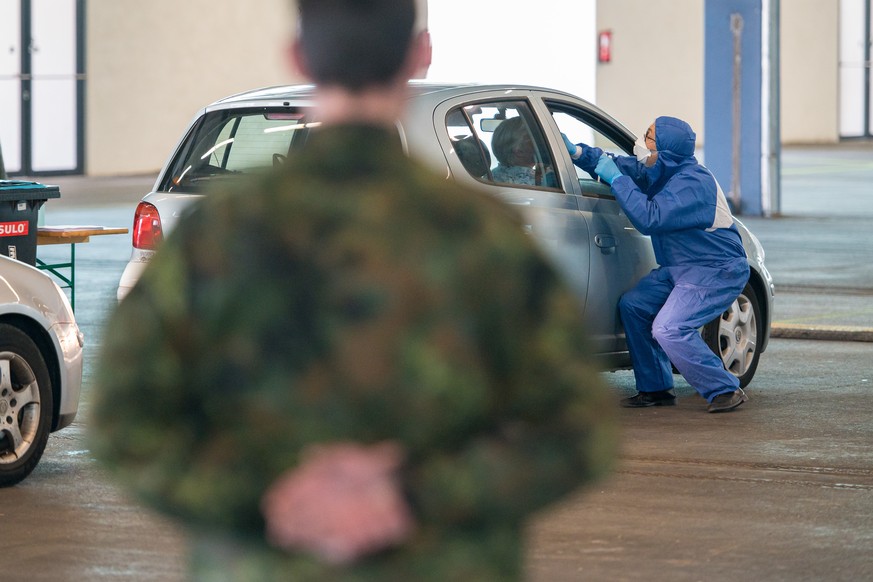
{"type": "Polygon", "coordinates": [[[596,0],[431,0],[429,80],[520,83],[593,100],[596,0]]]}

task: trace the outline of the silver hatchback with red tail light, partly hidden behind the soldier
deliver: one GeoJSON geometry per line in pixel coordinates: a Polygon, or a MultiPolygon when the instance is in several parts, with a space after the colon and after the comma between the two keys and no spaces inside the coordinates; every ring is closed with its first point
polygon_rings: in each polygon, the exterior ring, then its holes
{"type": "MultiPolygon", "coordinates": [[[[631,155],[635,136],[578,97],[541,87],[413,83],[398,125],[410,153],[435,171],[516,205],[525,228],[564,273],[584,306],[591,337],[606,365],[630,363],[618,299],[656,266],[651,241],[622,212],[609,186],[573,165],[561,134],[574,143],[631,155]],[[495,135],[508,120],[529,138],[534,163],[523,175],[494,172],[495,135]]],[[[164,235],[210,183],[269,170],[305,147],[313,118],[312,87],[260,89],[200,111],[136,209],[133,252],[119,283],[121,299],[164,235]]],[[[508,126],[507,126],[508,127],[508,126]]],[[[240,204],[245,204],[244,198],[240,204]]],[[[701,329],[725,367],[746,386],[770,336],[773,282],[764,251],[738,223],[751,265],[740,297],[701,329]]]]}

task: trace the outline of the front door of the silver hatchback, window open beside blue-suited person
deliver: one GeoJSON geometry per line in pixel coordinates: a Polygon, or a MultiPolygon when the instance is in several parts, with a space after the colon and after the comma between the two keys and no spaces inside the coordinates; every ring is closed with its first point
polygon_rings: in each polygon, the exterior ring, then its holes
{"type": "Polygon", "coordinates": [[[568,194],[576,200],[589,228],[588,298],[585,314],[597,333],[614,338],[614,352],[625,352],[624,329],[618,313],[621,295],[656,266],[649,237],[637,231],[622,211],[611,188],[573,165],[561,134],[618,155],[628,155],[634,137],[621,125],[580,100],[560,93],[538,92],[535,103],[550,131],[555,157],[569,175],[568,194]]]}

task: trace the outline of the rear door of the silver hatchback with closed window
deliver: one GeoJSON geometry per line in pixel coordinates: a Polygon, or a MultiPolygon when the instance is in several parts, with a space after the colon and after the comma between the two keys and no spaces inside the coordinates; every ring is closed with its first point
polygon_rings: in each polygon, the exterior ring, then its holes
{"type": "MultiPolygon", "coordinates": [[[[482,92],[443,102],[434,109],[434,127],[451,175],[485,189],[515,206],[544,254],[576,292],[587,313],[592,236],[579,212],[575,191],[565,187],[567,172],[549,145],[547,130],[529,91],[482,92]],[[530,164],[506,170],[503,134],[515,126],[529,140],[530,164]],[[504,158],[504,159],[501,159],[504,158]]],[[[615,348],[614,325],[591,326],[598,352],[615,348]]]]}

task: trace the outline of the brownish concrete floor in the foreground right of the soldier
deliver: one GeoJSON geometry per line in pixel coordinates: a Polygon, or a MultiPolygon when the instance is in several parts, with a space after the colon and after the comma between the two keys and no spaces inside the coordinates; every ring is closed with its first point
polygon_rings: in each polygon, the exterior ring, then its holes
{"type": "Polygon", "coordinates": [[[536,522],[531,579],[873,579],[871,350],[774,340],[734,413],[623,410],[616,472],[536,522]]]}

